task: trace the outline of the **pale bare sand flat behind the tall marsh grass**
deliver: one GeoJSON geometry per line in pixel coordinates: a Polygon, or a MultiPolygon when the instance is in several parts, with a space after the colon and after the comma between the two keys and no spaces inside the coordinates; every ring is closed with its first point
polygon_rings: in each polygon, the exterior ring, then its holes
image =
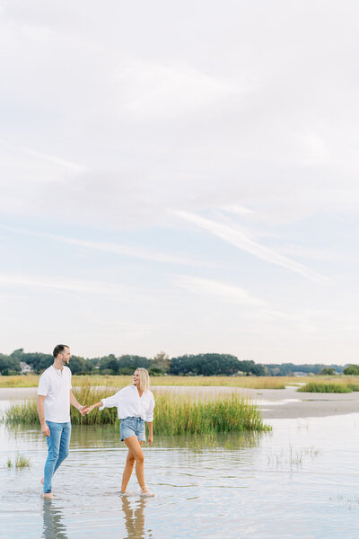
{"type": "MultiPolygon", "coordinates": [[[[152,389],[153,393],[196,393],[198,397],[239,393],[258,403],[263,413],[263,418],[267,420],[325,417],[359,412],[359,392],[298,393],[297,388],[294,386],[289,386],[285,389],[244,389],[241,387],[177,385],[153,386],[152,389]]],[[[36,387],[0,388],[0,401],[30,399],[36,397],[36,394],[36,387]]]]}

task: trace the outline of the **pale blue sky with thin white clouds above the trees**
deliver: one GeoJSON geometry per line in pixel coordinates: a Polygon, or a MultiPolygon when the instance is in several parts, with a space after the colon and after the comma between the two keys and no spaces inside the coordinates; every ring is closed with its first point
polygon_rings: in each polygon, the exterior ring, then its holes
{"type": "Polygon", "coordinates": [[[0,1],[0,352],[358,363],[358,18],[0,1]]]}

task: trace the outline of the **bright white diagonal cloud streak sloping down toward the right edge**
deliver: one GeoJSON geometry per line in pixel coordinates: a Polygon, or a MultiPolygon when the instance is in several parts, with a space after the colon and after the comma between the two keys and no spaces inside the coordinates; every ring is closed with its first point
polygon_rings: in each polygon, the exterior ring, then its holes
{"type": "Polygon", "coordinates": [[[222,223],[217,223],[211,219],[197,216],[196,214],[188,211],[175,210],[173,213],[182,219],[186,219],[187,221],[204,228],[211,234],[221,238],[224,242],[231,243],[243,251],[250,252],[250,254],[257,256],[263,261],[276,264],[277,266],[282,266],[283,268],[292,270],[295,273],[300,273],[303,277],[308,278],[316,283],[328,284],[331,282],[329,278],[310,270],[299,262],[292,261],[285,256],[278,254],[272,249],[268,249],[267,247],[254,242],[238,227],[234,228],[229,225],[223,225],[222,223]]]}

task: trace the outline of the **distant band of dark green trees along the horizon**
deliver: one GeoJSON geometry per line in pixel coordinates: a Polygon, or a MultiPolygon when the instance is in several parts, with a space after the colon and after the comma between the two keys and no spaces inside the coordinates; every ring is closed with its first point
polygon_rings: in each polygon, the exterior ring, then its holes
{"type": "MultiPolygon", "coordinates": [[[[14,350],[6,356],[0,354],[0,374],[17,375],[27,364],[32,372],[39,374],[52,365],[51,354],[14,350]]],[[[131,375],[136,367],[147,368],[151,376],[293,376],[300,375],[359,375],[359,365],[302,364],[293,363],[260,364],[249,360],[240,360],[231,354],[186,354],[169,358],[160,352],[154,358],[144,356],[114,354],[102,358],[82,358],[73,356],[70,367],[74,375],[131,375]]]]}

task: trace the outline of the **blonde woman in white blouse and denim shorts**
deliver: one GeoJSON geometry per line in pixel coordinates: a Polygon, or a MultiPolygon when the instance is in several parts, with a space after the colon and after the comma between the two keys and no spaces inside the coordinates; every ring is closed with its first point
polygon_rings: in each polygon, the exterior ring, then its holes
{"type": "Polygon", "coordinates": [[[150,376],[145,368],[137,368],[133,376],[133,384],[120,389],[118,393],[92,404],[86,409],[90,413],[94,408],[118,407],[118,419],[121,420],[120,437],[128,447],[125,470],[122,475],[121,493],[124,494],[131,473],[136,463],[137,481],[141,488],[141,496],[154,496],[144,483],[144,452],[145,442],[144,421],[148,424],[148,444],[153,442],[153,393],[150,391],[150,376]]]}

